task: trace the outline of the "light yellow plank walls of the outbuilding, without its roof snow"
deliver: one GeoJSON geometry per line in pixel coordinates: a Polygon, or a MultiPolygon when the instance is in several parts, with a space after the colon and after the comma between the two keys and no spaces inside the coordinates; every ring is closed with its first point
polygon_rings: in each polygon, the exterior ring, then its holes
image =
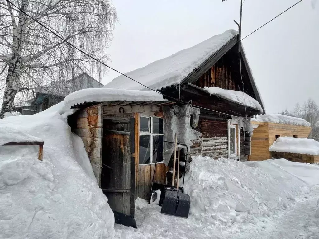
{"type": "Polygon", "coordinates": [[[258,125],[254,129],[251,137],[251,154],[248,160],[258,161],[271,158],[269,147],[276,140],[276,135],[290,136],[297,135],[298,138],[307,138],[311,127],[276,124],[270,122],[251,122],[253,125],[258,125]]]}

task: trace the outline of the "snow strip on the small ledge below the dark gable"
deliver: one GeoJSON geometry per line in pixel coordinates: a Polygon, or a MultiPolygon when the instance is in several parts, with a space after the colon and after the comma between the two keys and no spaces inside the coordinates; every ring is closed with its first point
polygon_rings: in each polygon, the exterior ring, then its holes
{"type": "Polygon", "coordinates": [[[204,90],[206,90],[211,95],[217,95],[221,98],[226,98],[235,101],[236,103],[246,105],[248,107],[258,109],[260,112],[263,112],[263,108],[256,99],[241,91],[224,90],[219,87],[207,86],[204,86],[204,90]]]}

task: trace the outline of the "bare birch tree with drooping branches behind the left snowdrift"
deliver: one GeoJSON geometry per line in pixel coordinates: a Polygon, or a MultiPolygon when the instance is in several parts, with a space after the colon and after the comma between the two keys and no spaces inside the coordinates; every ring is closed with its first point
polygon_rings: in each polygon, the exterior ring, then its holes
{"type": "Polygon", "coordinates": [[[11,110],[18,92],[59,82],[71,68],[106,69],[66,44],[45,27],[102,62],[116,20],[109,0],[7,0],[0,1],[0,86],[3,103],[0,118],[11,110]],[[15,6],[20,8],[19,11],[15,6]],[[28,17],[26,12],[31,17],[28,17]],[[34,19],[32,19],[34,18],[34,19]]]}

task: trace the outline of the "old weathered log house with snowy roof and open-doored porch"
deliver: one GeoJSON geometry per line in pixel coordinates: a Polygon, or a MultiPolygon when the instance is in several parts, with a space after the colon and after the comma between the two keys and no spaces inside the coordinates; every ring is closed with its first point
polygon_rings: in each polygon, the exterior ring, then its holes
{"type": "Polygon", "coordinates": [[[188,146],[182,171],[191,155],[247,160],[250,118],[264,110],[237,39],[229,30],[126,73],[164,99],[125,76],[65,99],[80,109],[68,122],[113,211],[134,217],[134,200],[150,197],[155,162],[154,181],[168,180],[174,144],[166,141],[174,141],[175,133],[178,146],[188,146]]]}

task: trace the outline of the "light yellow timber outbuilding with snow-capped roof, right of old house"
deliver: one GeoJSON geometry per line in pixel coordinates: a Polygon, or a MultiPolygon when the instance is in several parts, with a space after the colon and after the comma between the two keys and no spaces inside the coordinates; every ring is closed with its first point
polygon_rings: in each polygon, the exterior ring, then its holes
{"type": "Polygon", "coordinates": [[[280,136],[307,138],[311,126],[304,119],[283,114],[256,115],[251,119],[254,127],[251,137],[251,154],[248,160],[258,161],[271,158],[269,147],[280,136]]]}

